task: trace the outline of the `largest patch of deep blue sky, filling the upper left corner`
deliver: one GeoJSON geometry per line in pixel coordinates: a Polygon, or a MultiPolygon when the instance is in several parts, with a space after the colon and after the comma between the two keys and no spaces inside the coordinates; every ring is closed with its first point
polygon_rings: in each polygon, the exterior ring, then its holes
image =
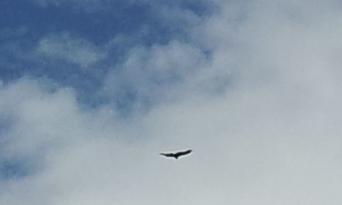
{"type": "MultiPolygon", "coordinates": [[[[212,9],[210,3],[194,1],[173,3],[96,1],[98,5],[93,5],[96,3],[92,1],[42,2],[1,2],[0,29],[3,48],[1,49],[1,79],[11,81],[23,76],[46,77],[61,86],[74,87],[78,90],[79,98],[92,106],[106,100],[98,100],[100,97],[90,96],[93,96],[102,86],[109,70],[114,69],[110,67],[122,61],[129,49],[134,46],[148,48],[155,44],[165,45],[171,40],[189,41],[187,28],[193,23],[181,15],[166,20],[173,17],[159,14],[159,9],[170,10],[170,14],[173,10],[188,12],[198,20],[209,16],[212,9]],[[70,44],[73,40],[79,40],[73,47],[86,44],[83,49],[91,49],[92,53],[101,53],[102,51],[99,50],[105,50],[103,53],[106,55],[101,57],[96,65],[93,65],[93,61],[90,60],[92,64],[90,66],[96,67],[96,72],[90,69],[80,71],[76,67],[85,64],[78,65],[79,61],[76,61],[76,64],[75,61],[71,61],[69,64],[70,62],[62,56],[29,56],[44,38],[70,40],[68,42],[70,44]],[[121,42],[114,42],[116,38],[122,38],[121,42]]],[[[130,92],[127,90],[127,100],[134,100],[135,94],[130,92]]],[[[127,100],[122,103],[129,104],[127,100]]],[[[118,106],[125,107],[122,103],[118,106]]]]}

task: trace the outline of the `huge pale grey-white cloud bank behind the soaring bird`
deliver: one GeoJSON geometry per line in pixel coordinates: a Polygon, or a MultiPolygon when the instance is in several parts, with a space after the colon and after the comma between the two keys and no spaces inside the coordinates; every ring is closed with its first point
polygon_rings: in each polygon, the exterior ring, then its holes
{"type": "Polygon", "coordinates": [[[13,122],[1,156],[32,156],[39,168],[0,185],[0,204],[341,204],[339,7],[219,5],[193,33],[210,57],[174,41],[135,48],[111,71],[113,94],[176,90],[142,118],[83,110],[48,84],[2,85],[0,113],[13,122]],[[213,97],[206,87],[222,74],[231,85],[213,97]],[[165,83],[173,77],[181,83],[165,83]],[[194,154],[158,156],[181,148],[194,154]]]}

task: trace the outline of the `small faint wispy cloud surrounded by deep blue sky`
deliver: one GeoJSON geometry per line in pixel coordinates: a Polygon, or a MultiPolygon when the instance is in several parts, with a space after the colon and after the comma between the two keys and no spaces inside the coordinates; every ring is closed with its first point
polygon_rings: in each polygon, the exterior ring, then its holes
{"type": "Polygon", "coordinates": [[[83,38],[60,33],[42,38],[35,51],[40,57],[59,59],[87,68],[106,57],[106,52],[83,38]]]}

